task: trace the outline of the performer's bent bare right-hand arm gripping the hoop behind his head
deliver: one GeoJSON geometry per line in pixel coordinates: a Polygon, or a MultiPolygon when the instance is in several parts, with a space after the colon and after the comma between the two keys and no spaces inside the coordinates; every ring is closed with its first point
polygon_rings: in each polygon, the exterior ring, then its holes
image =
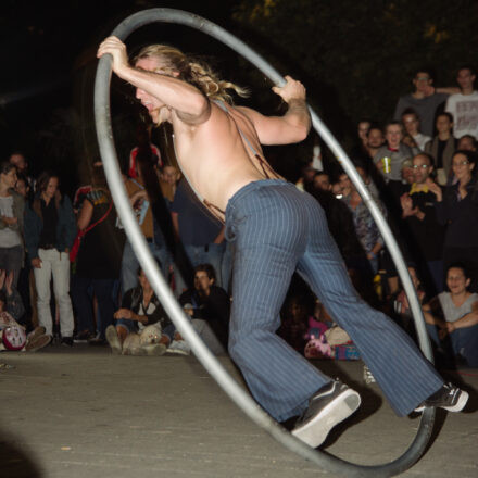
{"type": "Polygon", "coordinates": [[[286,80],[282,87],[273,88],[289,105],[284,116],[264,116],[249,108],[238,108],[251,120],[263,144],[299,142],[306,138],[311,129],[304,86],[290,76],[286,76],[286,80]]]}

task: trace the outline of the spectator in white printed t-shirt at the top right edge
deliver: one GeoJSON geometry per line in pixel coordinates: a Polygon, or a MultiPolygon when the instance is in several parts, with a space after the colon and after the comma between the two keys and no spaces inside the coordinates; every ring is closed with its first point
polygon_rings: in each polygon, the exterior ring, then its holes
{"type": "Polygon", "coordinates": [[[453,135],[456,139],[464,135],[478,138],[478,91],[474,89],[475,79],[475,70],[462,66],[456,75],[460,93],[452,95],[446,101],[444,110],[453,116],[453,135]]]}

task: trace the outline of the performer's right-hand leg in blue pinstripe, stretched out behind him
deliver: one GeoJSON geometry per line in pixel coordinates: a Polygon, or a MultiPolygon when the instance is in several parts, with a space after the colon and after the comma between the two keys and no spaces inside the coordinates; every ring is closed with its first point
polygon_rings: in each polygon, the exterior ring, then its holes
{"type": "Polygon", "coordinates": [[[299,272],[350,335],[393,410],[408,414],[442,387],[442,378],[400,327],[357,295],[317,201],[304,194],[304,209],[309,240],[299,272]]]}

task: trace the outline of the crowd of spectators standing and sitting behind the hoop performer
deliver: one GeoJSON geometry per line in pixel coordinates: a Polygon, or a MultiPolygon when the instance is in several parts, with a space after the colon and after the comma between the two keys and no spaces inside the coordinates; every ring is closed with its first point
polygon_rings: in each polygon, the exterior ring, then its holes
{"type": "MultiPolygon", "coordinates": [[[[458,88],[439,89],[429,71],[416,72],[414,91],[399,99],[392,120],[361,120],[349,151],[402,250],[437,353],[448,364],[469,366],[478,365],[475,79],[475,71],[463,66],[458,88]]],[[[150,131],[141,130],[138,142],[124,185],[141,232],[198,334],[214,353],[225,353],[232,246],[178,167],[151,143],[150,131]]],[[[297,186],[324,207],[357,291],[413,336],[408,302],[380,230],[354,183],[336,166],[324,168],[315,144],[297,186]]],[[[55,173],[33,178],[22,153],[0,164],[0,281],[8,284],[2,310],[25,331],[25,350],[58,338],[65,347],[88,342],[114,353],[188,354],[125,238],[101,163],[89,171],[72,202],[55,173]],[[13,312],[12,297],[23,303],[13,312]]],[[[356,357],[356,351],[340,349],[353,344],[304,290],[305,284],[291,288],[279,336],[307,357],[356,357]]]]}

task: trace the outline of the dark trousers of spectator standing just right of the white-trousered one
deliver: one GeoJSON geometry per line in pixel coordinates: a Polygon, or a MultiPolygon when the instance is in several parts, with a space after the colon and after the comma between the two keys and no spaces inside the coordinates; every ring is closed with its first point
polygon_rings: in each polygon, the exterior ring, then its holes
{"type": "Polygon", "coordinates": [[[91,292],[98,302],[97,331],[104,338],[104,330],[113,324],[116,310],[113,301],[114,279],[90,279],[74,276],[72,284],[72,300],[76,310],[76,331],[88,330],[95,334],[93,301],[91,292]]]}

